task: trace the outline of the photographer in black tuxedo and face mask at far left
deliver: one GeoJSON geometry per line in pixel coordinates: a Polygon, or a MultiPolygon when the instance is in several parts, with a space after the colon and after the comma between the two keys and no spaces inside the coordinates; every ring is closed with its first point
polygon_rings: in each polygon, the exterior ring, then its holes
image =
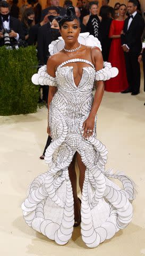
{"type": "Polygon", "coordinates": [[[10,16],[10,5],[6,1],[0,2],[0,46],[13,46],[20,39],[24,39],[21,22],[10,16]]]}

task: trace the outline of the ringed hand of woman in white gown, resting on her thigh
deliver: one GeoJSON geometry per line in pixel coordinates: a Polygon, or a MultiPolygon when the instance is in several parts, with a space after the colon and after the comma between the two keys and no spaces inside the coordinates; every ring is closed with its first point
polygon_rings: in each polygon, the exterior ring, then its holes
{"type": "Polygon", "coordinates": [[[93,134],[94,123],[95,123],[95,118],[92,118],[92,117],[88,117],[86,121],[83,122],[82,129],[84,130],[83,132],[84,138],[89,138],[93,134]]]}

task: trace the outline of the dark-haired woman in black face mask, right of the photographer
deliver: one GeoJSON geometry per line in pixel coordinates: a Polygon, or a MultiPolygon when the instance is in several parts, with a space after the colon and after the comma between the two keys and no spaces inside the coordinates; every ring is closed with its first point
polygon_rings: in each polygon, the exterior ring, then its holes
{"type": "Polygon", "coordinates": [[[32,8],[25,9],[21,21],[23,24],[25,41],[27,41],[29,37],[29,30],[33,25],[35,25],[35,13],[32,8]]]}

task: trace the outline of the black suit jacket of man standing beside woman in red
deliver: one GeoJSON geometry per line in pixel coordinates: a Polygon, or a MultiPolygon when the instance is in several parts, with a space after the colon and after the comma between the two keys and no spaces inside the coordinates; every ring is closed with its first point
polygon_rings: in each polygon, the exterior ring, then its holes
{"type": "Polygon", "coordinates": [[[130,52],[139,53],[142,49],[141,35],[144,29],[144,20],[138,13],[134,16],[129,30],[127,26],[130,17],[128,17],[124,22],[124,35],[121,35],[122,45],[126,44],[130,48],[130,52]]]}

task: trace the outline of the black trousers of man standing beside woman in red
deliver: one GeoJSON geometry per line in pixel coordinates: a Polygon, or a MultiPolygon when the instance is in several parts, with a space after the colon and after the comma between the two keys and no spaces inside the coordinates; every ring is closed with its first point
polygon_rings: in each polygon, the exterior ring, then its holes
{"type": "Polygon", "coordinates": [[[138,62],[138,53],[124,52],[127,80],[129,90],[136,93],[140,91],[140,64],[138,62]]]}

